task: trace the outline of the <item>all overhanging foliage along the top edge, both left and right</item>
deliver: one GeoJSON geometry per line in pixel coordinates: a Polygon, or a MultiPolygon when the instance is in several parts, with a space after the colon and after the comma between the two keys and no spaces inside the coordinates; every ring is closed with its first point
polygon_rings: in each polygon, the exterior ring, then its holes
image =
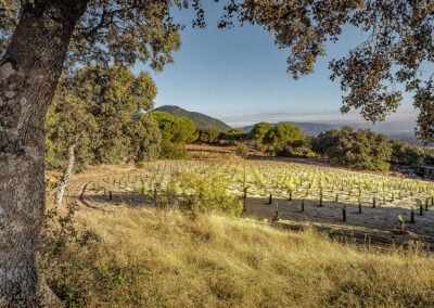
{"type": "MultiPolygon", "coordinates": [[[[73,3],[74,1],[72,1],[73,3]]],[[[170,9],[192,5],[194,26],[205,26],[199,0],[94,1],[86,7],[73,31],[67,64],[133,64],[137,60],[161,70],[180,48],[182,25],[173,21],[170,9]]],[[[423,72],[434,60],[434,3],[429,0],[315,0],[315,1],[219,1],[225,13],[219,27],[257,24],[288,49],[288,72],[299,78],[314,72],[326,44],[336,42],[346,26],[359,28],[365,40],[342,59],[330,63],[331,78],[341,80],[341,111],[360,110],[369,121],[383,120],[395,112],[403,85],[413,93],[420,111],[418,134],[434,140],[433,73],[423,72]]],[[[55,5],[55,1],[4,0],[0,10],[0,52],[5,49],[25,5],[55,5]],[[47,2],[47,3],[46,3],[47,2]],[[43,4],[46,3],[46,4],[43,4]]],[[[72,4],[71,4],[72,5],[72,4]]]]}

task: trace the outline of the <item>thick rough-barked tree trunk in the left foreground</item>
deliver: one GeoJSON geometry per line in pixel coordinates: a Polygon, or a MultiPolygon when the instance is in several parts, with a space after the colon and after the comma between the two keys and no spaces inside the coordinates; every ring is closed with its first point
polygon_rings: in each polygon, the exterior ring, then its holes
{"type": "Polygon", "coordinates": [[[0,61],[0,307],[49,306],[36,269],[44,211],[44,117],[87,0],[22,1],[0,61]]]}

